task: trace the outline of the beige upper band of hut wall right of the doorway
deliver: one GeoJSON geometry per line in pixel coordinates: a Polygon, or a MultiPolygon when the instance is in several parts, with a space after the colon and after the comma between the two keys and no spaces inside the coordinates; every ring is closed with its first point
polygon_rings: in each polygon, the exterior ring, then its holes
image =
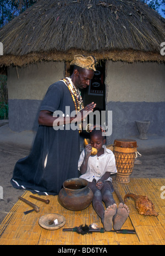
{"type": "Polygon", "coordinates": [[[165,101],[165,64],[106,62],[106,102],[165,101]]]}

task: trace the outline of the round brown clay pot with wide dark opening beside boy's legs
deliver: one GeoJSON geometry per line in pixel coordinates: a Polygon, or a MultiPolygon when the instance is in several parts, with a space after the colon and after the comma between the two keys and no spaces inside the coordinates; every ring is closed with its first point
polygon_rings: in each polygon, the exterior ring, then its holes
{"type": "Polygon", "coordinates": [[[58,201],[71,211],[81,211],[90,205],[94,194],[85,179],[74,178],[63,182],[63,189],[59,191],[58,201]]]}

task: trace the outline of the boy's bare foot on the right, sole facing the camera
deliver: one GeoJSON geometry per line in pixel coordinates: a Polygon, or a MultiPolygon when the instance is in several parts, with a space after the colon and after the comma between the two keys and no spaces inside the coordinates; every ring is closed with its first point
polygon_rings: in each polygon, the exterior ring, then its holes
{"type": "Polygon", "coordinates": [[[113,228],[114,230],[120,229],[124,222],[127,220],[129,216],[129,208],[127,205],[123,205],[123,203],[119,203],[118,209],[117,209],[117,214],[114,217],[113,220],[113,228]]]}

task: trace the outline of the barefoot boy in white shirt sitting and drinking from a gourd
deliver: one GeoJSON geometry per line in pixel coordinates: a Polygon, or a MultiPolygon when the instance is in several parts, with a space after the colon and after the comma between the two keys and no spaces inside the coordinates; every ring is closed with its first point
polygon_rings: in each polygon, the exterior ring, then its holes
{"type": "Polygon", "coordinates": [[[117,173],[116,161],[114,154],[105,146],[106,139],[102,135],[102,130],[92,130],[90,133],[90,144],[86,145],[85,149],[79,158],[80,178],[89,181],[89,187],[94,193],[92,205],[101,218],[103,227],[106,231],[111,231],[112,227],[115,230],[120,229],[129,215],[129,208],[123,203],[119,203],[117,208],[112,192],[111,173],[117,173]],[[92,147],[97,149],[97,155],[91,156],[92,147]],[[103,206],[105,202],[105,207],[103,206]]]}

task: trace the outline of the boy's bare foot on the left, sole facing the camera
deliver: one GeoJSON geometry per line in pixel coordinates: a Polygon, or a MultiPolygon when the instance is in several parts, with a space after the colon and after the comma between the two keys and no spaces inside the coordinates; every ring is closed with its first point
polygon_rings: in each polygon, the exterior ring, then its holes
{"type": "Polygon", "coordinates": [[[116,214],[116,210],[117,210],[116,203],[113,203],[113,205],[108,206],[108,208],[105,210],[103,226],[106,231],[111,231],[112,229],[112,218],[116,214]]]}

